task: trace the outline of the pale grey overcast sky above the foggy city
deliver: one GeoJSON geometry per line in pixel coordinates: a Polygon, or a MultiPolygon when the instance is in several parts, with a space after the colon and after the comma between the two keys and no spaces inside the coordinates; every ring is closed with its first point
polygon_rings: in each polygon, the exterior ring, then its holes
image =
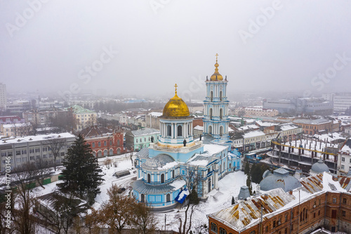
{"type": "Polygon", "coordinates": [[[350,0],[0,0],[0,25],[9,92],[189,98],[216,53],[230,93],[350,91],[350,0]]]}

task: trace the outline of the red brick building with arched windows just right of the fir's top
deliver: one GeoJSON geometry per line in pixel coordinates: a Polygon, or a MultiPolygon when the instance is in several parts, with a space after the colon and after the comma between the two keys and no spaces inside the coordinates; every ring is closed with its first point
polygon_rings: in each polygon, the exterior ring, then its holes
{"type": "Polygon", "coordinates": [[[91,126],[83,129],[82,134],[86,143],[91,146],[95,157],[121,155],[124,150],[123,130],[107,129],[104,126],[91,126]]]}

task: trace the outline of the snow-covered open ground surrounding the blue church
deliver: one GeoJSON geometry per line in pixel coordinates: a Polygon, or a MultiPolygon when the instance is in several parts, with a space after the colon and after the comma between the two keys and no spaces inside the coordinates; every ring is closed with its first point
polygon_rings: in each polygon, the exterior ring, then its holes
{"type": "MultiPolygon", "coordinates": [[[[108,159],[112,160],[112,167],[105,166],[106,158],[100,158],[98,160],[104,174],[102,178],[104,178],[105,181],[103,181],[100,186],[101,193],[95,198],[96,202],[93,204],[95,209],[99,209],[101,204],[108,200],[107,190],[112,184],[117,184],[118,186],[126,188],[126,191],[123,194],[128,195],[131,191],[131,183],[135,181],[137,176],[129,154],[108,157],[108,159]],[[114,167],[114,162],[117,163],[117,167],[114,167]],[[130,175],[121,178],[113,176],[116,171],[124,171],[126,169],[131,172],[130,175]]],[[[60,183],[60,181],[50,183],[44,186],[44,189],[41,187],[35,188],[34,191],[37,195],[51,193],[56,189],[57,183],[60,183]]],[[[218,182],[218,189],[212,190],[208,193],[206,202],[200,202],[199,205],[197,205],[197,209],[193,214],[192,226],[199,226],[201,224],[208,225],[206,214],[211,214],[220,209],[224,209],[225,207],[229,207],[232,204],[233,196],[235,197],[235,200],[237,200],[241,186],[246,186],[246,175],[244,175],[243,171],[236,171],[227,174],[227,176],[218,182]]],[[[254,183],[253,190],[256,190],[256,184],[254,183]]],[[[166,212],[156,213],[157,219],[159,220],[159,229],[164,230],[166,215],[166,230],[178,230],[178,217],[183,217],[184,212],[185,208],[171,209],[166,212]]]]}

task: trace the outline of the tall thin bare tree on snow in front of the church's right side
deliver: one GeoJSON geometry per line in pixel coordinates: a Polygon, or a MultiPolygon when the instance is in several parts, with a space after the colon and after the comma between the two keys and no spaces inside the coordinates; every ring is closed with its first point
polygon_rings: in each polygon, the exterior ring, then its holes
{"type": "Polygon", "coordinates": [[[195,205],[199,204],[198,189],[199,183],[201,183],[201,170],[199,170],[199,167],[188,167],[185,177],[189,196],[187,197],[187,201],[185,201],[187,204],[184,220],[178,217],[180,221],[178,229],[181,234],[188,234],[192,228],[192,215],[196,209],[195,205]]]}

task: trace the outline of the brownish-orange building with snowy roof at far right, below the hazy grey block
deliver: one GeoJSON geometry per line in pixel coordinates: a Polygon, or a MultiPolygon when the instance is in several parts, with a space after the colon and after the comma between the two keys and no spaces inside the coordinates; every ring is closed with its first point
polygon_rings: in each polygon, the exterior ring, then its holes
{"type": "Polygon", "coordinates": [[[333,121],[328,119],[293,119],[293,123],[302,126],[303,134],[307,135],[333,132],[333,121]]]}

